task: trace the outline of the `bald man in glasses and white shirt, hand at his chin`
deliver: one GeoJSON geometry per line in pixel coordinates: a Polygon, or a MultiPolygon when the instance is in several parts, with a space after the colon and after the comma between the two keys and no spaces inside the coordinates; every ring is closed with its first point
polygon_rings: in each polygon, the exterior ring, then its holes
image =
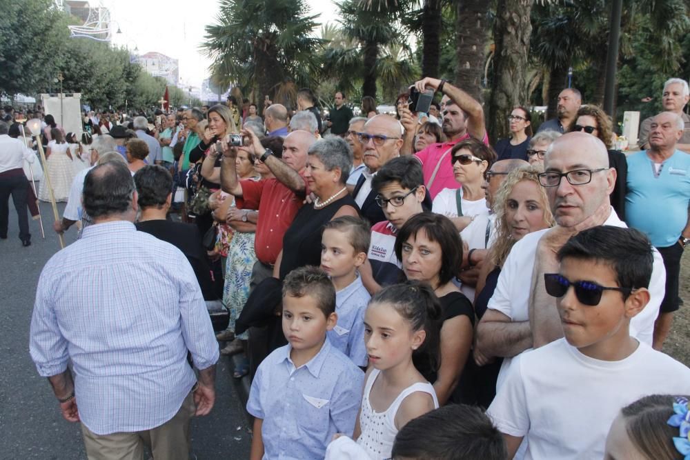
{"type": "MultiPolygon", "coordinates": [[[[597,137],[571,132],[553,141],[544,158],[540,183],[546,188],[556,226],[525,235],[506,259],[489,309],[477,326],[477,350],[485,357],[504,357],[497,388],[512,357],[563,337],[555,299],[546,294],[544,273],[558,272],[556,253],[578,232],[595,226],[627,227],[618,218],[609,194],[615,169],[597,137]]],[[[651,346],[654,321],[664,297],[665,270],[654,251],[651,299],[631,319],[630,333],[651,346]]]]}

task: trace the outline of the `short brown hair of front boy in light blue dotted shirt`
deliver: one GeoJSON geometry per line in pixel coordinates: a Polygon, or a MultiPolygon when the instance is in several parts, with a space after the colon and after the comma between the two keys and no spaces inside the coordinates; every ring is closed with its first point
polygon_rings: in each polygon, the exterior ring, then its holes
{"type": "Polygon", "coordinates": [[[324,270],[313,266],[296,268],[283,281],[283,297],[304,297],[316,300],[317,307],[328,318],[335,312],[335,288],[324,270]]]}

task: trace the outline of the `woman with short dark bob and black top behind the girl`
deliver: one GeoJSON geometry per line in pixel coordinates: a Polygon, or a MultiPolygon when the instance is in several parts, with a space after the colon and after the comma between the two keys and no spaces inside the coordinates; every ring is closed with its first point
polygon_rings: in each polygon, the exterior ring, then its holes
{"type": "Polygon", "coordinates": [[[448,217],[431,212],[415,214],[395,238],[395,254],[407,279],[431,285],[443,308],[441,363],[435,370],[428,359],[415,359],[415,366],[433,383],[439,404],[449,401],[472,346],[472,303],[453,284],[462,266],[460,234],[448,217]]]}

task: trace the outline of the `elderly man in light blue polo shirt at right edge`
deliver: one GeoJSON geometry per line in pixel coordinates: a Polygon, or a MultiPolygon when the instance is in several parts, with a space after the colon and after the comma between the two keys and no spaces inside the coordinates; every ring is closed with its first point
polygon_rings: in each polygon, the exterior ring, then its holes
{"type": "Polygon", "coordinates": [[[690,243],[690,155],[678,148],[684,125],[676,112],[661,112],[649,125],[649,148],[627,157],[626,219],[647,234],[666,268],[666,293],[654,324],[656,350],[664,345],[680,307],[680,258],[690,243]]]}

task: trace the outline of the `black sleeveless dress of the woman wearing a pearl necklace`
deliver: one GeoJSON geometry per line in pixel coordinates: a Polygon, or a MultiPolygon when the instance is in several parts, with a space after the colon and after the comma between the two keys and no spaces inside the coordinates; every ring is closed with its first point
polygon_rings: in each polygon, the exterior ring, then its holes
{"type": "Polygon", "coordinates": [[[280,279],[295,268],[321,265],[321,234],[324,226],[343,206],[352,206],[359,212],[350,194],[333,201],[325,208],[314,209],[313,204],[299,208],[295,220],[283,237],[283,257],[280,262],[280,279]]]}

